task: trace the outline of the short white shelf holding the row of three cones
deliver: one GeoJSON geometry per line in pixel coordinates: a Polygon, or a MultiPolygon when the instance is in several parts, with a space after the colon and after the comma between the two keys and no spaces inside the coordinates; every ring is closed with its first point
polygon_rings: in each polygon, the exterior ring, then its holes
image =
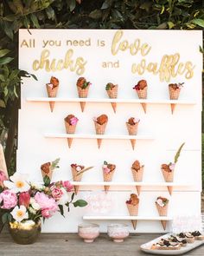
{"type": "Polygon", "coordinates": [[[112,140],[154,140],[150,135],[85,135],[85,134],[60,134],[45,133],[46,138],[78,138],[78,139],[112,139],[112,140]]]}

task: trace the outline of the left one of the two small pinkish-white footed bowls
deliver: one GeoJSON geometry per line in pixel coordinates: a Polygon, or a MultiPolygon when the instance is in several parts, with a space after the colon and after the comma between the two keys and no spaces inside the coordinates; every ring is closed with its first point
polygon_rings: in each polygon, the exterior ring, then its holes
{"type": "Polygon", "coordinates": [[[92,243],[99,236],[99,225],[94,223],[80,224],[78,234],[86,243],[92,243]]]}

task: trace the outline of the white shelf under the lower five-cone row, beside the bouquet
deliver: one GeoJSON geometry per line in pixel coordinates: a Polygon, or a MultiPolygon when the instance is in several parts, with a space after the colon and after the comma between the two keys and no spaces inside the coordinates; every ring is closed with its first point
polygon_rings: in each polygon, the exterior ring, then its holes
{"type": "Polygon", "coordinates": [[[73,186],[143,186],[143,187],[191,187],[192,184],[183,184],[176,182],[90,182],[90,181],[72,181],[73,186]]]}

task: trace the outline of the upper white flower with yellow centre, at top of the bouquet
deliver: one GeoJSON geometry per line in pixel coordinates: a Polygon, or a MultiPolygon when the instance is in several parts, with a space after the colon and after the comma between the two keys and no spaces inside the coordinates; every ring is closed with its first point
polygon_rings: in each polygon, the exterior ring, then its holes
{"type": "Polygon", "coordinates": [[[10,176],[10,181],[3,181],[5,187],[8,187],[12,192],[26,192],[29,190],[29,183],[27,181],[27,174],[15,173],[10,176]]]}

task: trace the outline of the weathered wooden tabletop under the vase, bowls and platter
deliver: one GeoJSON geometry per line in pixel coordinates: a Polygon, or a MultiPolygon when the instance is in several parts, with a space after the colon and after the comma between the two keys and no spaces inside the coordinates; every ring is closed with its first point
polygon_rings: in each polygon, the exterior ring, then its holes
{"type": "MultiPolygon", "coordinates": [[[[55,255],[75,255],[78,256],[138,256],[150,255],[140,251],[140,245],[154,240],[158,237],[158,233],[131,234],[124,243],[114,243],[110,240],[106,233],[100,234],[92,244],[86,244],[79,238],[76,233],[41,233],[41,239],[35,244],[28,246],[20,246],[11,240],[7,231],[0,234],[0,247],[2,256],[20,256],[26,252],[29,256],[55,255]]],[[[185,255],[204,255],[204,246],[200,246],[185,255]]]]}

